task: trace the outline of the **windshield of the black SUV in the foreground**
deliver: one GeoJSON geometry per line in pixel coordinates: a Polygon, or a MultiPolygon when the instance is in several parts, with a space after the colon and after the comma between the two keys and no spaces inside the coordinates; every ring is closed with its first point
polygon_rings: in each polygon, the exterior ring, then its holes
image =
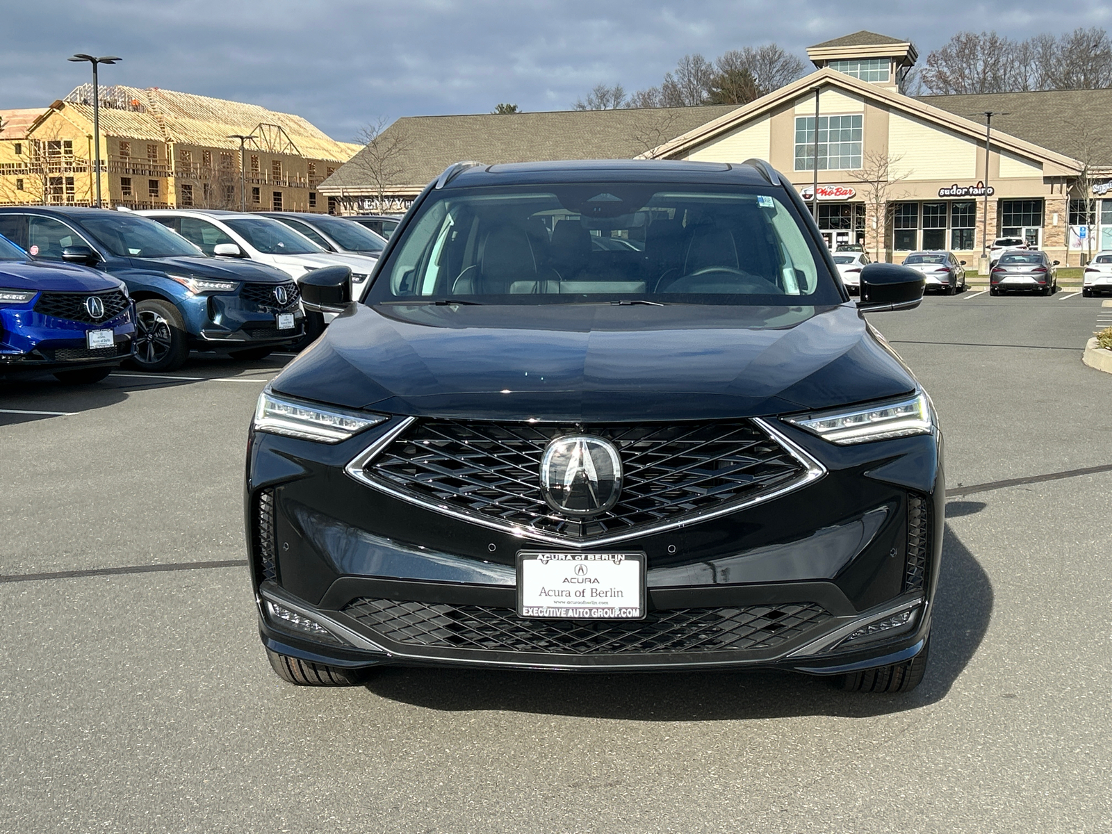
{"type": "Polygon", "coordinates": [[[756,189],[576,183],[433,192],[368,304],[841,304],[794,207],[756,189]]]}

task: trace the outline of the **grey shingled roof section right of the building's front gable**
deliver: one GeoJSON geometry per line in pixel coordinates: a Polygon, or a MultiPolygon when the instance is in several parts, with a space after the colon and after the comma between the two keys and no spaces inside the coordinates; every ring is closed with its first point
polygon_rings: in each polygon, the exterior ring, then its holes
{"type": "MultiPolygon", "coordinates": [[[[992,133],[1003,131],[1090,166],[1112,166],[1112,90],[1041,90],[983,92],[970,96],[920,96],[925,105],[974,121],[992,110],[992,133]]],[[[982,128],[982,133],[984,128],[982,128]]]]}

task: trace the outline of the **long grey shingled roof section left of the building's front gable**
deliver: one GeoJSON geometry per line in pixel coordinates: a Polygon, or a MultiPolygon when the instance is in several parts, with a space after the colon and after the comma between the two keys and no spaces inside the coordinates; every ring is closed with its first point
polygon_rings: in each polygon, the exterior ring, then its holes
{"type": "MultiPolygon", "coordinates": [[[[400,150],[390,160],[398,173],[391,190],[419,191],[460,159],[488,165],[558,159],[632,159],[666,139],[692,130],[734,105],[617,110],[558,110],[537,113],[411,116],[383,132],[400,150]]],[[[325,180],[319,190],[370,192],[367,151],[325,180]]]]}

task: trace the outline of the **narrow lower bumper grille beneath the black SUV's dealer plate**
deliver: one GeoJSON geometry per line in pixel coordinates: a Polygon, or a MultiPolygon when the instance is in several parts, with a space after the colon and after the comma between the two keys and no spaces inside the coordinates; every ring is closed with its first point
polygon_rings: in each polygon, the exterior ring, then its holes
{"type": "Polygon", "coordinates": [[[814,603],[671,608],[642,620],[525,619],[513,608],[363,597],[344,613],[411,646],[566,655],[746,652],[775,648],[830,619],[814,603]]]}

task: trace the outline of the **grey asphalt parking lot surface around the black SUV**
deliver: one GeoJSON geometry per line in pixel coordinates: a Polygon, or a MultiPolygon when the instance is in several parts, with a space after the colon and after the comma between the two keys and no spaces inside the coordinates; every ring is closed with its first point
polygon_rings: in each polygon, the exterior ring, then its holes
{"type": "Polygon", "coordinates": [[[1112,375],[1101,299],[873,324],[942,415],[932,657],[902,696],[782,674],[270,671],[244,567],[284,357],[0,384],[0,831],[1102,832],[1112,375]]]}

